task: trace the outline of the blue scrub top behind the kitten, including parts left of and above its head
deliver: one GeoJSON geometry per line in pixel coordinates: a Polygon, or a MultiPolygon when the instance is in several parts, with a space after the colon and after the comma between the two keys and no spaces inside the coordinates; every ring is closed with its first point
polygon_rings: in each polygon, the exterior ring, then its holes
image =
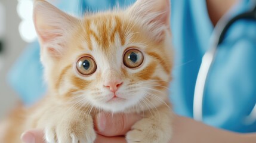
{"type": "MultiPolygon", "coordinates": [[[[62,1],[62,10],[79,15],[105,10],[135,0],[76,0],[62,1]],[[75,3],[76,2],[76,3],[75,3]],[[70,3],[70,4],[69,4],[70,3]],[[81,5],[82,11],[77,7],[81,5]]],[[[249,10],[249,0],[239,1],[229,16],[249,10]]],[[[214,26],[208,17],[205,0],[171,0],[171,27],[175,49],[174,81],[171,83],[171,101],[177,114],[193,117],[193,93],[203,54],[209,48],[214,26]]],[[[220,45],[209,73],[203,99],[203,122],[236,132],[255,132],[256,122],[246,123],[256,103],[256,23],[240,20],[233,24],[220,45]]],[[[18,58],[8,76],[10,84],[30,105],[46,91],[42,82],[38,42],[32,43],[18,58]]]]}

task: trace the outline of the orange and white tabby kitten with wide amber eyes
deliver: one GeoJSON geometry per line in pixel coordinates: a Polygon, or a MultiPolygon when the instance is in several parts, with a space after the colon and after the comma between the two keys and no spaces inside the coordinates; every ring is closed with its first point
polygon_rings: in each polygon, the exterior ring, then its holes
{"type": "Polygon", "coordinates": [[[138,0],[127,10],[81,19],[36,0],[33,13],[48,94],[11,115],[2,142],[20,142],[22,132],[37,128],[47,142],[92,143],[92,118],[101,111],[143,116],[128,143],[169,142],[169,0],[138,0]]]}

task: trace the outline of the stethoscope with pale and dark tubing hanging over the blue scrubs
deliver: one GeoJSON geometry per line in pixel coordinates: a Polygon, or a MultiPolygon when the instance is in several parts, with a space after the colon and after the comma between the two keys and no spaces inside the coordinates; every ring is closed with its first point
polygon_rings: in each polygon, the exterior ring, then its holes
{"type": "MultiPolygon", "coordinates": [[[[241,19],[256,20],[256,1],[254,1],[254,8],[245,13],[239,14],[233,17],[231,20],[227,20],[226,17],[221,18],[214,29],[214,34],[211,39],[211,47],[203,55],[201,67],[198,72],[198,78],[196,79],[194,101],[193,101],[193,117],[195,120],[203,120],[203,94],[205,92],[205,84],[208,78],[209,70],[214,63],[218,45],[224,41],[224,36],[227,30],[233,23],[241,19]]],[[[250,124],[256,120],[256,104],[251,111],[251,114],[245,118],[245,123],[250,124]]]]}

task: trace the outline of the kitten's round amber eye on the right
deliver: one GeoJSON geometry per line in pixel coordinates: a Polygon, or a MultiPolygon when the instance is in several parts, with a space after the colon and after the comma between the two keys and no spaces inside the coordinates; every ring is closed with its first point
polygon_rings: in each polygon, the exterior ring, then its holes
{"type": "Polygon", "coordinates": [[[144,57],[138,49],[129,49],[124,54],[124,64],[129,68],[139,67],[143,63],[144,57]]]}

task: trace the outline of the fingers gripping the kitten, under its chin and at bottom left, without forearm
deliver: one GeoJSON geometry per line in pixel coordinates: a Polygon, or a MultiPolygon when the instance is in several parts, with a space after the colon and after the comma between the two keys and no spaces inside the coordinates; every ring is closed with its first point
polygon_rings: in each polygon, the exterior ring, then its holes
{"type": "MultiPolygon", "coordinates": [[[[124,135],[141,117],[137,114],[104,114],[95,117],[95,130],[98,133],[96,143],[122,143],[126,142],[124,135]]],[[[45,143],[42,130],[29,130],[21,135],[25,143],[45,143]]]]}

